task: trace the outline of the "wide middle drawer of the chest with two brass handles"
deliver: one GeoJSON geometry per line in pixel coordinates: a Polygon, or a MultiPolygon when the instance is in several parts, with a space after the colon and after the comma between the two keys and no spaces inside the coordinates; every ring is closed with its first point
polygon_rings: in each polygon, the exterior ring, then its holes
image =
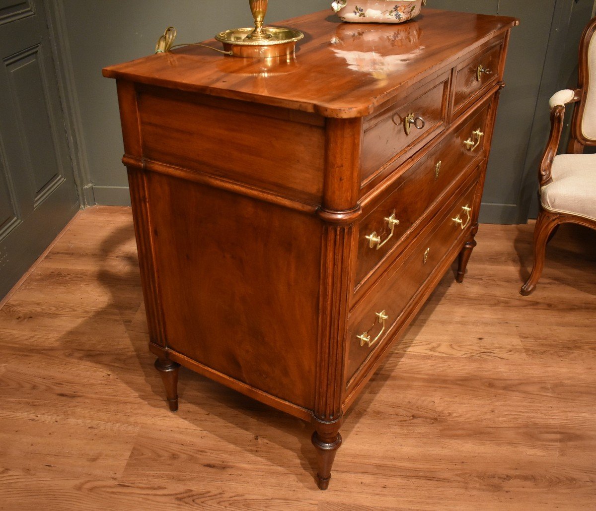
{"type": "MultiPolygon", "coordinates": [[[[355,291],[402,246],[403,239],[446,189],[483,155],[489,107],[445,137],[429,155],[407,170],[393,192],[359,222],[355,291]]],[[[395,254],[397,255],[397,254],[395,254]]]]}

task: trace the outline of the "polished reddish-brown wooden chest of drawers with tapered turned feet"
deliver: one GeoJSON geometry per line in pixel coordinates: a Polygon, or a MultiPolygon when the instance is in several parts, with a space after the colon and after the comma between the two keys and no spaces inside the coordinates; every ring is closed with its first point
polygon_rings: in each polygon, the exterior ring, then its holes
{"type": "Polygon", "coordinates": [[[516,23],[323,12],[286,23],[288,60],[104,70],[172,410],[182,364],[309,420],[327,488],[344,412],[458,255],[464,277],[516,23]]]}

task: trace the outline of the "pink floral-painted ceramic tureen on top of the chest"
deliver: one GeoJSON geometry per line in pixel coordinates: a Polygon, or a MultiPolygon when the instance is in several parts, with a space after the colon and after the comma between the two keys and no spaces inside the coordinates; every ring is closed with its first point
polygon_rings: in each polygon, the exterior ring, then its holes
{"type": "Polygon", "coordinates": [[[342,21],[403,23],[420,14],[426,0],[335,0],[331,8],[342,21]]]}

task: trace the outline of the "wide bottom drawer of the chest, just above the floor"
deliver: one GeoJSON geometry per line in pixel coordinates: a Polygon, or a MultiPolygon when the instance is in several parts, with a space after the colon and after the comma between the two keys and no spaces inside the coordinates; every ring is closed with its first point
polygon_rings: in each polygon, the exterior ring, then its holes
{"type": "MultiPolygon", "coordinates": [[[[463,242],[474,217],[477,182],[450,201],[424,230],[419,241],[403,254],[371,288],[348,317],[347,362],[344,381],[349,386],[356,372],[392,337],[403,323],[406,309],[456,242],[463,242]]],[[[449,261],[451,263],[451,261],[449,261]]]]}

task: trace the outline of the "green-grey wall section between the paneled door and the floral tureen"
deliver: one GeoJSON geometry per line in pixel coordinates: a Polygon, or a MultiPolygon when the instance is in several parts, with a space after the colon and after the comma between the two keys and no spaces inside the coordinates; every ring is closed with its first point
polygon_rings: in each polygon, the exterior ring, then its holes
{"type": "MultiPolygon", "coordinates": [[[[59,0],[63,5],[67,51],[79,108],[79,145],[86,179],[93,183],[88,201],[130,204],[116,97],[116,83],[101,76],[111,64],[153,53],[168,26],[176,42],[212,38],[230,27],[249,26],[246,0],[59,0]]],[[[273,22],[327,7],[327,0],[270,2],[273,22]]]]}

